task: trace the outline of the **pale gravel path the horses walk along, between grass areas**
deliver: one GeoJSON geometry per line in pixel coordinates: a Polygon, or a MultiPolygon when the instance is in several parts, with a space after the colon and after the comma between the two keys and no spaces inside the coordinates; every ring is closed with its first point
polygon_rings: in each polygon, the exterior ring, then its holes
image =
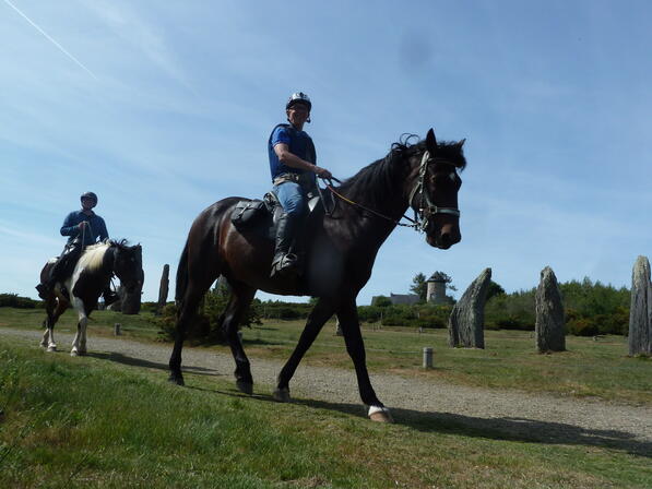
{"type": "MultiPolygon", "coordinates": [[[[42,333],[0,327],[0,335],[28,339],[36,347],[42,333]]],[[[58,333],[56,339],[61,350],[58,355],[68,354],[72,335],[58,333]]],[[[88,350],[91,356],[110,361],[167,370],[171,347],[90,336],[88,350]]],[[[185,371],[233,380],[234,367],[228,354],[183,348],[185,371]]],[[[271,392],[281,367],[275,360],[251,359],[257,392],[265,387],[271,392]]],[[[609,446],[652,457],[652,406],[469,387],[387,373],[371,372],[371,382],[395,420],[419,430],[609,446]]],[[[291,389],[297,402],[365,415],[353,368],[300,365],[291,389]]]]}

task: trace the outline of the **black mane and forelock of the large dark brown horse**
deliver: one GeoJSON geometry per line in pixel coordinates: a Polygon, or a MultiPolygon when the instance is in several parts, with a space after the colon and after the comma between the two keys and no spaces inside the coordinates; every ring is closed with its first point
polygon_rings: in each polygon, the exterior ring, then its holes
{"type": "MultiPolygon", "coordinates": [[[[349,195],[364,194],[370,205],[378,206],[388,199],[390,191],[403,174],[407,170],[405,159],[420,154],[426,150],[426,140],[414,144],[411,140],[417,138],[415,134],[403,134],[401,140],[393,143],[390,152],[384,158],[367,165],[356,175],[340,186],[340,191],[349,195]]],[[[437,143],[437,157],[450,162],[455,168],[463,170],[466,167],[466,158],[462,152],[462,145],[458,142],[441,141],[437,143]]]]}

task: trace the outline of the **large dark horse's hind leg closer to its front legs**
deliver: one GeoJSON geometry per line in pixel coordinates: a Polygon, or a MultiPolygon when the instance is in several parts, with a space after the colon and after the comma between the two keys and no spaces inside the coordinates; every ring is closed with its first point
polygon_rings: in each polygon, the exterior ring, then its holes
{"type": "Polygon", "coordinates": [[[234,372],[236,377],[236,385],[241,392],[252,394],[253,378],[251,377],[251,367],[249,365],[249,359],[245,354],[242,342],[238,336],[238,325],[245,319],[245,314],[256,295],[256,289],[241,283],[230,283],[230,286],[232,296],[223,313],[224,321],[222,323],[222,330],[224,331],[234,360],[236,361],[236,370],[234,372]]]}

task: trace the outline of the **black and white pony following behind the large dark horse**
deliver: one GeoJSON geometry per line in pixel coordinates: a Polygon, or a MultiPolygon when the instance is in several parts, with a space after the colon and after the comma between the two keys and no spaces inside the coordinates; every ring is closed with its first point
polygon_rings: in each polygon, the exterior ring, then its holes
{"type": "MultiPolygon", "coordinates": [[[[42,283],[47,278],[56,259],[46,263],[40,272],[42,283]]],[[[72,275],[66,279],[66,289],[70,300],[61,293],[61,284],[45,299],[47,317],[43,322],[46,327],[40,346],[48,351],[56,351],[54,329],[59,317],[72,306],[78,314],[76,334],[70,355],[76,357],[86,353],[86,325],[91,312],[97,309],[97,299],[116,275],[127,294],[140,294],[143,285],[142,248],[140,244],[127,246],[126,240],[105,241],[88,246],[76,262],[72,275]]]]}

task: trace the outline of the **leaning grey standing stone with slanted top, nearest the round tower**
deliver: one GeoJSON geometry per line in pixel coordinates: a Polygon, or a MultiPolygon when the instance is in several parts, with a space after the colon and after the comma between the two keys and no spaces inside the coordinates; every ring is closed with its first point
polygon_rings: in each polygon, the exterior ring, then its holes
{"type": "Polygon", "coordinates": [[[491,269],[485,269],[453,307],[448,319],[449,346],[485,347],[485,300],[490,282],[491,269]]]}

